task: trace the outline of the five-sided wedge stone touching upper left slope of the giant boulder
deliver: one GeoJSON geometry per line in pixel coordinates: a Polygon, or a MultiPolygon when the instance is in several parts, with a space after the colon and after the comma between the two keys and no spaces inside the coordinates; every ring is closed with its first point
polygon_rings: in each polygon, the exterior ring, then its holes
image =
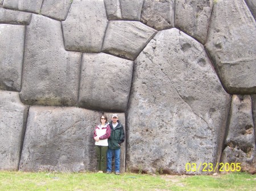
{"type": "Polygon", "coordinates": [[[102,52],[135,60],[157,31],[141,22],[110,21],[102,52]]]}

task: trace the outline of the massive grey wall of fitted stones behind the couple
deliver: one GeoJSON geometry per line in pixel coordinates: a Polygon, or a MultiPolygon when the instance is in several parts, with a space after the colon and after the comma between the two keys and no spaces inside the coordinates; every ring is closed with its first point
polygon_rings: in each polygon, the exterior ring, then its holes
{"type": "Polygon", "coordinates": [[[121,171],[256,172],[255,1],[0,0],[0,169],[94,171],[102,113],[121,171]]]}

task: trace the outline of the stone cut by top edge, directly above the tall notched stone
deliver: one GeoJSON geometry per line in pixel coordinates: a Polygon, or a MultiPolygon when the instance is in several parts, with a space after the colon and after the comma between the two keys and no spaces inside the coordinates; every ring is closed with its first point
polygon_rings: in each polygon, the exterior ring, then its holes
{"type": "Polygon", "coordinates": [[[44,0],[41,14],[56,20],[65,20],[71,4],[71,0],[44,0]]]}

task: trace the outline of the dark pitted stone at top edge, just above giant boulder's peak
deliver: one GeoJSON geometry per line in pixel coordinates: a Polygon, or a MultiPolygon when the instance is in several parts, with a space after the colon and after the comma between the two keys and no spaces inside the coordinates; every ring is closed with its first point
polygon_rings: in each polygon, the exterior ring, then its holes
{"type": "Polygon", "coordinates": [[[174,0],[145,0],[141,22],[160,31],[174,27],[174,0]]]}

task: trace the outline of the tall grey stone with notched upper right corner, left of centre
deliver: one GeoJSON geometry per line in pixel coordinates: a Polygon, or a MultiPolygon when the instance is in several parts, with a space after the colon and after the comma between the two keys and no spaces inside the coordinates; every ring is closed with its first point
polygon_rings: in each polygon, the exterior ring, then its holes
{"type": "Polygon", "coordinates": [[[76,105],[81,53],[64,49],[61,24],[32,15],[26,28],[20,98],[26,104],[76,105]]]}

